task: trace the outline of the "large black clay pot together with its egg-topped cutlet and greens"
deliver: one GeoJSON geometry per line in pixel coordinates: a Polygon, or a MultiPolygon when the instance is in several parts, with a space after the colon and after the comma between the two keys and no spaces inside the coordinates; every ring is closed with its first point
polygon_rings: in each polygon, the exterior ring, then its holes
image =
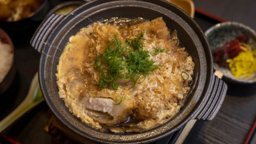
{"type": "Polygon", "coordinates": [[[50,15],[31,45],[47,105],[98,143],[150,143],[211,120],[227,91],[202,30],[164,0],[93,0],[50,15]]]}

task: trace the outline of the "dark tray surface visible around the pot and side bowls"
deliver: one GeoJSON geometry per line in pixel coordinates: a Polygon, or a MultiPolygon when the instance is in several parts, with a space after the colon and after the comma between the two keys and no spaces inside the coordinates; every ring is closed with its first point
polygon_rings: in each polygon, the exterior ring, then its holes
{"type": "MultiPolygon", "coordinates": [[[[199,1],[199,0],[196,0],[199,1]]],[[[52,2],[52,6],[57,2],[52,2]]],[[[196,13],[195,21],[203,31],[218,21],[196,13]]],[[[0,120],[18,106],[27,95],[30,82],[39,66],[39,53],[32,49],[29,40],[35,28],[25,32],[26,37],[17,39],[11,34],[15,46],[15,60],[18,68],[11,88],[1,95],[0,120]]],[[[45,102],[27,112],[3,131],[21,144],[53,143],[48,133],[43,131],[52,112],[45,102]]],[[[184,144],[241,144],[245,140],[256,118],[256,84],[238,85],[228,83],[228,93],[212,121],[197,121],[184,144]]]]}

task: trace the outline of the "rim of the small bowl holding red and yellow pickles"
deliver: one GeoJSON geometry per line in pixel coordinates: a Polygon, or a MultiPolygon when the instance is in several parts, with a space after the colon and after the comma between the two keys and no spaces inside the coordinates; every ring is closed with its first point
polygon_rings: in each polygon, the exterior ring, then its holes
{"type": "MultiPolygon", "coordinates": [[[[243,28],[246,31],[250,32],[256,39],[256,31],[254,29],[250,28],[248,25],[245,25],[245,24],[242,24],[242,23],[236,22],[236,21],[225,21],[225,22],[220,22],[216,25],[213,25],[212,27],[208,28],[205,31],[206,38],[208,39],[211,32],[213,32],[215,29],[224,28],[225,26],[228,26],[228,25],[234,25],[234,26],[238,26],[239,28],[243,28]]],[[[209,41],[209,39],[208,39],[208,41],[209,41]]],[[[211,49],[211,51],[213,50],[212,48],[210,48],[210,49],[211,49]]],[[[218,71],[221,74],[223,74],[223,72],[221,70],[219,70],[216,65],[218,65],[218,64],[213,61],[214,71],[218,71]]],[[[254,83],[256,83],[256,79],[255,80],[243,80],[243,79],[235,78],[235,77],[233,77],[233,75],[232,75],[232,77],[227,76],[226,74],[223,74],[223,80],[233,83],[233,84],[254,84],[254,83]]]]}

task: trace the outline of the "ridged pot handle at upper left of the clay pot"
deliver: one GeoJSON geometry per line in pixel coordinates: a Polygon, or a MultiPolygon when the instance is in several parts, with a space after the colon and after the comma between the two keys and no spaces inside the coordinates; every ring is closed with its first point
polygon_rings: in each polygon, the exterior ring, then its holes
{"type": "Polygon", "coordinates": [[[51,14],[41,23],[39,28],[37,28],[30,41],[30,44],[39,53],[42,52],[42,49],[46,45],[47,39],[54,32],[54,29],[59,24],[60,20],[62,20],[62,18],[64,18],[64,15],[51,14]]]}

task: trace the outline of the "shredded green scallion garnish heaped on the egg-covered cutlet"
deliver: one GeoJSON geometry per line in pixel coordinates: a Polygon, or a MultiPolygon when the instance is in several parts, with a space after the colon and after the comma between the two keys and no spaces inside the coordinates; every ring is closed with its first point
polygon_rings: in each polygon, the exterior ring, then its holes
{"type": "MultiPolygon", "coordinates": [[[[94,68],[100,71],[100,88],[110,85],[117,90],[120,87],[118,79],[129,79],[133,82],[130,88],[133,88],[139,79],[144,81],[150,71],[160,66],[149,60],[149,51],[143,50],[143,35],[140,33],[135,39],[126,39],[124,43],[114,35],[114,40],[107,45],[105,52],[96,57],[94,68]]],[[[163,51],[155,48],[156,53],[163,51]]]]}

